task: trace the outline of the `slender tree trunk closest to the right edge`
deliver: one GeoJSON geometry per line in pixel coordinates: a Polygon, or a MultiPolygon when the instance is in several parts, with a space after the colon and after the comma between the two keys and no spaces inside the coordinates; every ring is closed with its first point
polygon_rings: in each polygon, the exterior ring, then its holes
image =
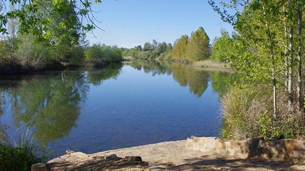
{"type": "Polygon", "coordinates": [[[302,0],[298,0],[298,110],[301,111],[304,108],[303,92],[302,92],[302,0]]]}

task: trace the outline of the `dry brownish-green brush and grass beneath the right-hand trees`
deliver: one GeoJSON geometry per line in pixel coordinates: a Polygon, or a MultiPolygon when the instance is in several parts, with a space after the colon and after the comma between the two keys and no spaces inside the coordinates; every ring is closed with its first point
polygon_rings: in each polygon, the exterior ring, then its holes
{"type": "Polygon", "coordinates": [[[287,112],[284,90],[278,90],[276,118],[268,85],[232,87],[222,98],[222,136],[227,139],[285,137],[305,139],[305,115],[287,112]]]}

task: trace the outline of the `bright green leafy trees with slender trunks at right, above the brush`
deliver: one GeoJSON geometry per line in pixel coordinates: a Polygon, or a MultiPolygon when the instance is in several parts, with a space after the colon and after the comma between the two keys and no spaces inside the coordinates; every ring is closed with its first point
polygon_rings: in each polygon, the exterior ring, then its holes
{"type": "Polygon", "coordinates": [[[294,99],[298,99],[297,108],[301,111],[304,108],[302,0],[230,0],[223,3],[223,9],[213,0],[209,0],[209,3],[224,21],[234,26],[247,48],[243,55],[237,57],[239,60],[234,62],[239,65],[238,69],[249,73],[247,75],[251,75],[252,80],[271,83],[274,119],[277,114],[276,93],[279,85],[287,91],[288,112],[293,111],[294,99]],[[227,12],[230,10],[233,14],[227,12]],[[297,74],[294,74],[295,71],[297,74]],[[296,92],[293,87],[297,87],[296,92]],[[297,98],[293,97],[294,94],[297,98]]]}

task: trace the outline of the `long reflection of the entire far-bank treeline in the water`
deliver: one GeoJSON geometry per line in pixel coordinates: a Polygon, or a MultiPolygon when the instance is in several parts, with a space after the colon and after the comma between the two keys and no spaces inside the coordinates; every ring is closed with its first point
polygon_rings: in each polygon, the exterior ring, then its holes
{"type": "Polygon", "coordinates": [[[229,82],[232,80],[232,74],[222,71],[206,71],[179,63],[170,63],[166,61],[141,61],[136,60],[129,64],[131,67],[141,70],[145,73],[154,75],[173,74],[174,80],[181,86],[189,87],[189,91],[201,97],[208,88],[208,81],[211,78],[213,91],[222,96],[229,89],[229,82]]]}

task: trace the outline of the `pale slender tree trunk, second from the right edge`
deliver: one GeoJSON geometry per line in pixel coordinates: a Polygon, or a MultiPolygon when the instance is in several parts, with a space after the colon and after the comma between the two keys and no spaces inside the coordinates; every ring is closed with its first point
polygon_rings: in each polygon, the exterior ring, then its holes
{"type": "MultiPolygon", "coordinates": [[[[292,6],[291,6],[291,0],[288,0],[288,7],[289,7],[289,21],[293,21],[293,16],[292,16],[292,6]]],[[[288,58],[288,110],[290,111],[292,109],[292,101],[293,101],[293,96],[292,96],[292,66],[293,66],[293,49],[292,49],[292,44],[293,44],[293,28],[291,26],[291,23],[289,24],[289,44],[288,44],[288,53],[289,53],[289,58],[288,58]]]]}

